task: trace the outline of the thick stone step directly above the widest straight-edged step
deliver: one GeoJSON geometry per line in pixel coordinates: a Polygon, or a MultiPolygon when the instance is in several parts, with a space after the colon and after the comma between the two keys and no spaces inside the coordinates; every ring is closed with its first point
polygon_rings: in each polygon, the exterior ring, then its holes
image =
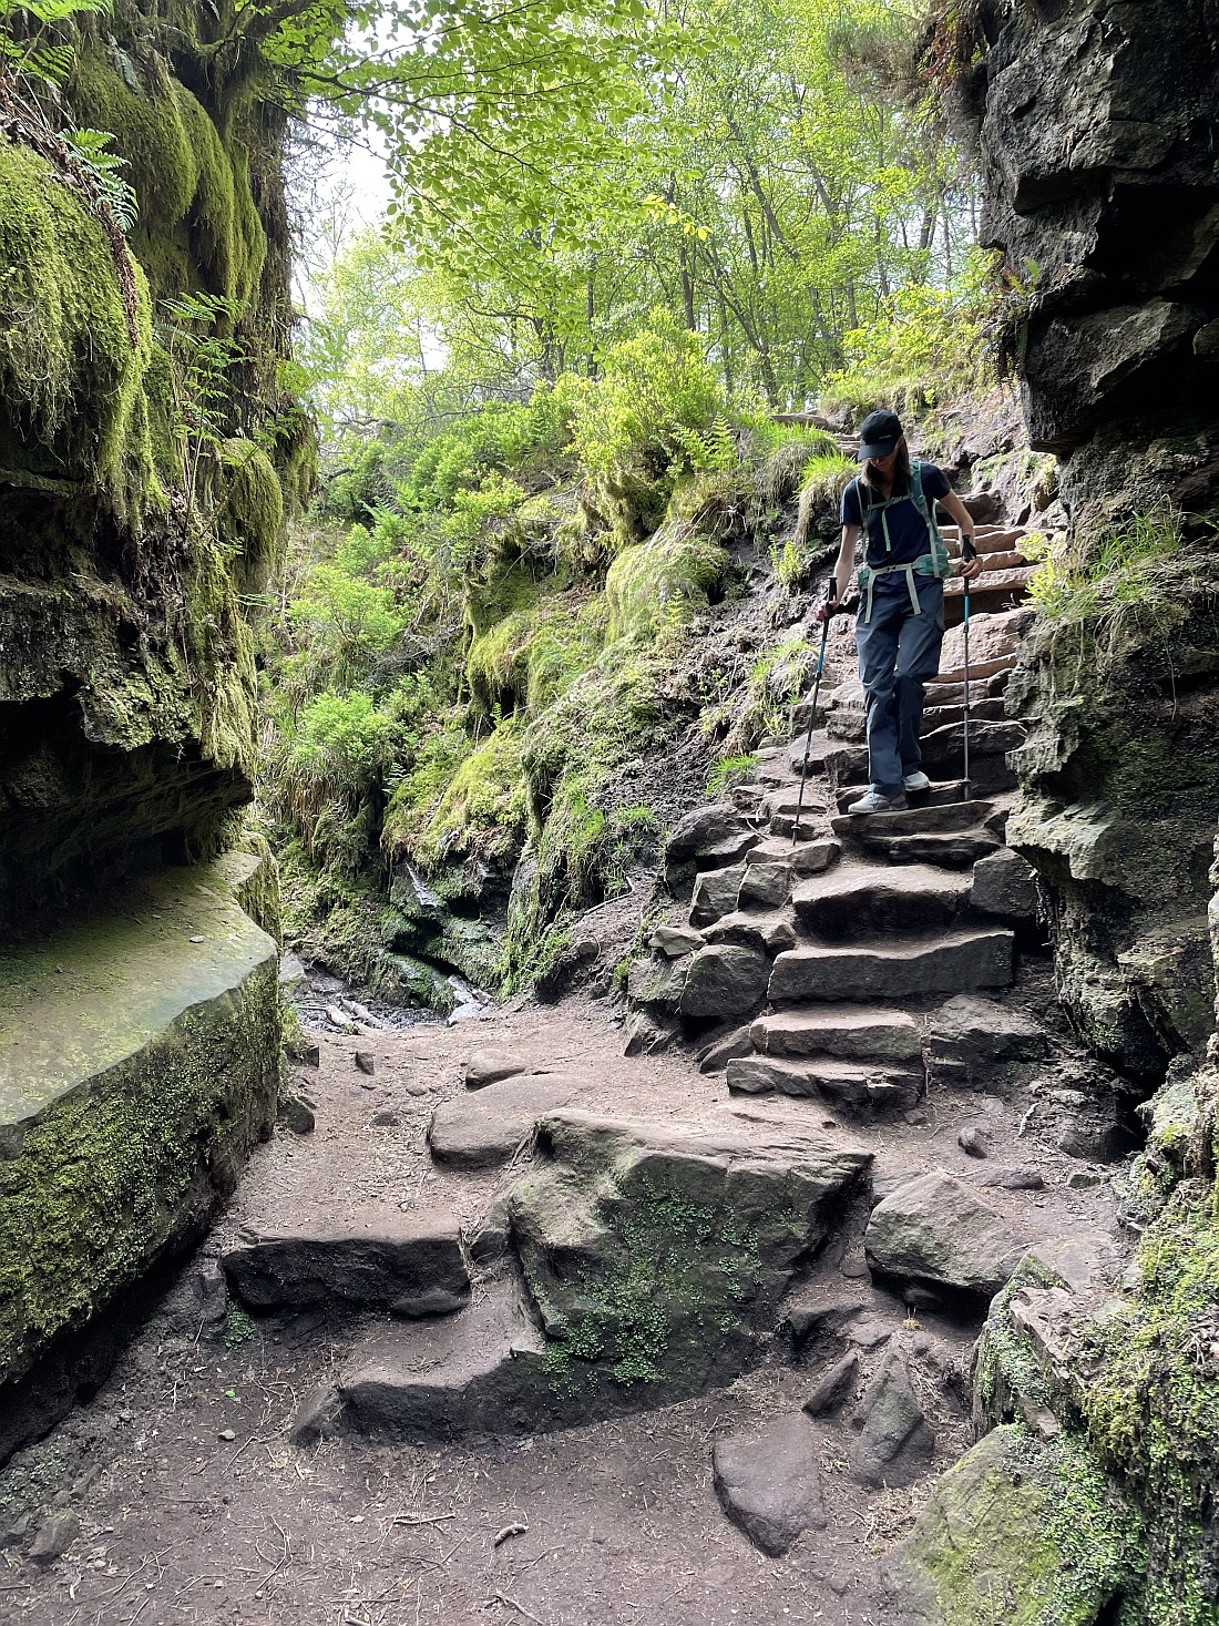
{"type": "Polygon", "coordinates": [[[801,925],[819,938],[928,932],[961,915],[970,885],[972,876],[944,875],[930,865],[897,870],[850,863],[801,881],[792,902],[801,925]]]}

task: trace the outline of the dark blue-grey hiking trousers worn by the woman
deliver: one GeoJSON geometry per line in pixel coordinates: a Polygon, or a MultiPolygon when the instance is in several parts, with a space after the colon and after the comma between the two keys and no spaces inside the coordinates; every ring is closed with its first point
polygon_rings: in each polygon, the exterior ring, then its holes
{"type": "Polygon", "coordinates": [[[944,584],[917,576],[922,613],[910,605],[904,574],[884,576],[873,589],[871,620],[855,623],[860,681],[868,704],[868,780],[884,797],[902,792],[918,769],[923,689],[939,670],[944,641],[944,584]]]}

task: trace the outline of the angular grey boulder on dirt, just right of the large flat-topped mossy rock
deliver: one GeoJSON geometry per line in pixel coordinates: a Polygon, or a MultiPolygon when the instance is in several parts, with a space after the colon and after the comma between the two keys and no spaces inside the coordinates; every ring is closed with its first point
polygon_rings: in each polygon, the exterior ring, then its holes
{"type": "Polygon", "coordinates": [[[881,1275],[983,1298],[1011,1280],[1026,1246],[1001,1215],[943,1171],[878,1203],[865,1234],[868,1263],[881,1275]]]}

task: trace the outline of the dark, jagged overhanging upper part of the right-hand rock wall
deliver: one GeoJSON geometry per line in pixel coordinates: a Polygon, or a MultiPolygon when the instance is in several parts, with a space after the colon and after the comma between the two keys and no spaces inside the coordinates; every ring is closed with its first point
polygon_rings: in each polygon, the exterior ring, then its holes
{"type": "Polygon", "coordinates": [[[1035,447],[1078,517],[1219,483],[1219,5],[987,8],[983,242],[1027,289],[1035,447]]]}

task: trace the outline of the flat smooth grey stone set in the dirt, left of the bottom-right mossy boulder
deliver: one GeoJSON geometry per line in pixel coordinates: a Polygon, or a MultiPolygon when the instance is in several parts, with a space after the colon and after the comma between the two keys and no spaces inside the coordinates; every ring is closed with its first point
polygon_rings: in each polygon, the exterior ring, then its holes
{"type": "Polygon", "coordinates": [[[717,1439],[712,1465],[725,1514],[772,1558],[805,1530],[826,1528],[818,1436],[800,1411],[717,1439]]]}

